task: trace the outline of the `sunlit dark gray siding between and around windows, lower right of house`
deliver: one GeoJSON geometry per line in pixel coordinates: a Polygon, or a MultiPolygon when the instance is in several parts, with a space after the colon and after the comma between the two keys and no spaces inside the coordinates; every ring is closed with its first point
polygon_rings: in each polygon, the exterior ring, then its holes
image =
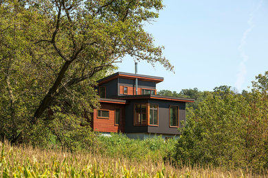
{"type": "Polygon", "coordinates": [[[186,103],[176,101],[160,101],[156,99],[150,99],[148,102],[158,104],[159,106],[159,126],[148,126],[148,133],[179,134],[178,128],[170,127],[169,125],[169,107],[170,105],[179,106],[179,123],[181,123],[181,120],[186,119],[186,103]]]}

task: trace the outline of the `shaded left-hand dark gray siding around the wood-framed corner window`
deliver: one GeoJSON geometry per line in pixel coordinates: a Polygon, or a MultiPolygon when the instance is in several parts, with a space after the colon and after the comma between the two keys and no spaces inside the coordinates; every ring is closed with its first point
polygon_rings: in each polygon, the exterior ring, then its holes
{"type": "Polygon", "coordinates": [[[125,105],[125,132],[126,133],[144,133],[148,132],[148,126],[134,126],[134,104],[148,103],[148,99],[129,100],[129,104],[125,105]]]}

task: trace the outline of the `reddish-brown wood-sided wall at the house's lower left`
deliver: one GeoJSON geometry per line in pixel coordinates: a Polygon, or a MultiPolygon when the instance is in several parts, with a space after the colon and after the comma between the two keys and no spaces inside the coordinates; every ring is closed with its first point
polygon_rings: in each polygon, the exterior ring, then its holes
{"type": "Polygon", "coordinates": [[[98,110],[93,111],[93,131],[124,133],[124,105],[101,103],[101,110],[109,110],[109,118],[98,118],[98,110]],[[115,109],[121,109],[121,123],[115,125],[115,109]]]}

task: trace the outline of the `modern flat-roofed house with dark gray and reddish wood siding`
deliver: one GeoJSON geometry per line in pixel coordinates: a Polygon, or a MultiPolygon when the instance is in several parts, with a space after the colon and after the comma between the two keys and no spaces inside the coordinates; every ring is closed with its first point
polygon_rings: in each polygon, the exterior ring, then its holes
{"type": "Polygon", "coordinates": [[[126,133],[130,138],[179,136],[186,103],[194,99],[157,95],[163,77],[114,73],[98,81],[100,109],[93,111],[93,131],[126,133]]]}

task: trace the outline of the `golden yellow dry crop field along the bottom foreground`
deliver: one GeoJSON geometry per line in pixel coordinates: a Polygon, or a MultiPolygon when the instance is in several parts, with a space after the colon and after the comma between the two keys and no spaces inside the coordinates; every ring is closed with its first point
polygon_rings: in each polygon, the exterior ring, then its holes
{"type": "Polygon", "coordinates": [[[175,168],[163,162],[131,162],[99,153],[67,153],[0,142],[2,177],[268,177],[221,168],[175,168]]]}

